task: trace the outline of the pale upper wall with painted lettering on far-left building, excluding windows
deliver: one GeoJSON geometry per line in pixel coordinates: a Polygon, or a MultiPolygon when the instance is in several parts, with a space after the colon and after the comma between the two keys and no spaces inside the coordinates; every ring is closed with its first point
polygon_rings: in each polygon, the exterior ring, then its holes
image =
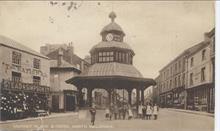
{"type": "Polygon", "coordinates": [[[22,52],[16,49],[0,46],[0,81],[2,79],[11,80],[12,71],[21,73],[21,82],[33,83],[33,76],[41,78],[40,85],[50,86],[50,63],[49,59],[22,52]],[[21,53],[21,65],[12,64],[12,52],[21,53]],[[33,68],[34,58],[40,59],[40,69],[33,68]]]}

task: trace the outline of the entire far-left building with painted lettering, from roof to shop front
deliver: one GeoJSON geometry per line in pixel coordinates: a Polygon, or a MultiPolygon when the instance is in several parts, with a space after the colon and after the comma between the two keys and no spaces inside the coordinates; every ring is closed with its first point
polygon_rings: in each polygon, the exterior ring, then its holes
{"type": "Polygon", "coordinates": [[[48,109],[49,58],[0,36],[1,118],[16,119],[48,109]]]}

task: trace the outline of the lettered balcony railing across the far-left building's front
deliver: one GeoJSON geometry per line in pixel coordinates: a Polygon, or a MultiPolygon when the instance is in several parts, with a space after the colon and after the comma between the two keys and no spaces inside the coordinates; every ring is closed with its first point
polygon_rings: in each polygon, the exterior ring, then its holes
{"type": "Polygon", "coordinates": [[[2,90],[21,90],[21,91],[32,91],[32,92],[40,92],[40,93],[49,93],[50,87],[37,85],[33,83],[22,83],[22,82],[14,82],[10,80],[3,79],[1,82],[2,90]]]}

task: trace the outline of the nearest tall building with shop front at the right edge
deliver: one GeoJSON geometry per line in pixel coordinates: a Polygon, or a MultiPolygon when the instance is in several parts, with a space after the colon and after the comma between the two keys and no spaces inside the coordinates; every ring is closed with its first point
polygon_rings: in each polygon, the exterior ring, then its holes
{"type": "Polygon", "coordinates": [[[187,56],[187,109],[214,112],[214,29],[187,56]]]}

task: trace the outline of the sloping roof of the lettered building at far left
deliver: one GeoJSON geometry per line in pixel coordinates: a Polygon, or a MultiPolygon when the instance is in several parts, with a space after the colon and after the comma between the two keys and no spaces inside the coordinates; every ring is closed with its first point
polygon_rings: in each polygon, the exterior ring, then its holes
{"type": "Polygon", "coordinates": [[[4,46],[9,47],[9,48],[17,49],[17,50],[22,51],[22,52],[26,52],[26,53],[29,53],[29,54],[32,54],[32,55],[36,55],[36,56],[39,56],[39,57],[49,59],[48,57],[42,55],[41,53],[39,53],[35,50],[32,50],[32,49],[28,48],[27,46],[24,46],[23,44],[21,44],[19,42],[16,42],[16,41],[14,41],[14,40],[12,40],[8,37],[2,36],[2,35],[0,35],[0,45],[4,45],[4,46]]]}

